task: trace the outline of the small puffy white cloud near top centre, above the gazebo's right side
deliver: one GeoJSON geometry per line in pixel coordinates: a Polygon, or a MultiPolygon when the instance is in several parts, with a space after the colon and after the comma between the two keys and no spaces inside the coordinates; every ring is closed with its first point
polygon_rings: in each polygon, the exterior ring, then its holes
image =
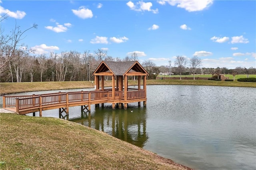
{"type": "Polygon", "coordinates": [[[158,13],[157,8],[155,10],[151,9],[151,7],[153,6],[151,2],[139,1],[135,5],[133,2],[129,1],[126,3],[126,5],[129,6],[131,10],[140,11],[140,12],[150,11],[150,12],[153,12],[154,14],[158,13]]]}

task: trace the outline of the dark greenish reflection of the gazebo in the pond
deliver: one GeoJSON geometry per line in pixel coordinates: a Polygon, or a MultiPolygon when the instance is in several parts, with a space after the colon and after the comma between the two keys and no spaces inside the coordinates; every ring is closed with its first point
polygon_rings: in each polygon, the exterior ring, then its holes
{"type": "Polygon", "coordinates": [[[146,108],[133,108],[133,112],[112,110],[111,107],[96,108],[91,113],[82,112],[81,117],[69,121],[101,130],[139,147],[143,147],[148,140],[146,108]]]}

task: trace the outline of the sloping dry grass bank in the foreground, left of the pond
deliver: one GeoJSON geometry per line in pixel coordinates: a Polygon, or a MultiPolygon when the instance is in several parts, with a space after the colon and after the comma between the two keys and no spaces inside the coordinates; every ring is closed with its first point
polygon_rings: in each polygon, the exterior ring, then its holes
{"type": "Polygon", "coordinates": [[[184,170],[99,130],[50,117],[0,113],[2,170],[184,170]]]}

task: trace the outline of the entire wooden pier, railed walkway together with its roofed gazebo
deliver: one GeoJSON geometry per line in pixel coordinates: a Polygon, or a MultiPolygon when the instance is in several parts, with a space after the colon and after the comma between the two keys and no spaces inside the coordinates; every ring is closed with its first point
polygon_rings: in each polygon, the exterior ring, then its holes
{"type": "Polygon", "coordinates": [[[146,75],[148,73],[138,61],[102,61],[93,75],[95,78],[94,91],[3,96],[3,108],[15,111],[20,115],[39,111],[39,115],[42,117],[44,110],[59,109],[60,114],[65,112],[68,115],[69,107],[81,106],[81,111],[90,111],[91,105],[98,106],[100,103],[102,105],[112,103],[112,109],[116,108],[116,104],[120,109],[123,105],[124,109],[127,109],[128,103],[134,102],[138,102],[139,106],[140,102],[143,102],[146,107],[146,75]],[[128,76],[134,75],[138,77],[138,89],[128,88],[128,76]],[[104,89],[104,76],[111,76],[112,88],[104,89]]]}

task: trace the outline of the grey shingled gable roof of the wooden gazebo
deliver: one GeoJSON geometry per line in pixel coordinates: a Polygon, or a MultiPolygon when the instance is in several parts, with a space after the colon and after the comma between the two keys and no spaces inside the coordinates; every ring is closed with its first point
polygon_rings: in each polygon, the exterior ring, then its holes
{"type": "Polygon", "coordinates": [[[102,61],[94,73],[109,71],[115,76],[124,75],[127,72],[142,72],[148,74],[138,61],[102,61]]]}

